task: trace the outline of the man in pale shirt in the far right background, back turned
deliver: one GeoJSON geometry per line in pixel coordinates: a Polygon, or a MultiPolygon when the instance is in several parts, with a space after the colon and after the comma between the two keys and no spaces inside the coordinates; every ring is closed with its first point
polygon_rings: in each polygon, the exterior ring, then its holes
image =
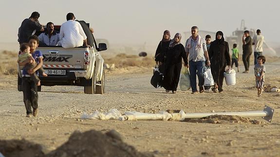
{"type": "Polygon", "coordinates": [[[258,63],[258,56],[262,55],[262,44],[263,44],[263,35],[261,35],[261,30],[257,30],[257,35],[253,37],[252,45],[255,45],[254,48],[254,63],[255,65],[258,63]]]}

